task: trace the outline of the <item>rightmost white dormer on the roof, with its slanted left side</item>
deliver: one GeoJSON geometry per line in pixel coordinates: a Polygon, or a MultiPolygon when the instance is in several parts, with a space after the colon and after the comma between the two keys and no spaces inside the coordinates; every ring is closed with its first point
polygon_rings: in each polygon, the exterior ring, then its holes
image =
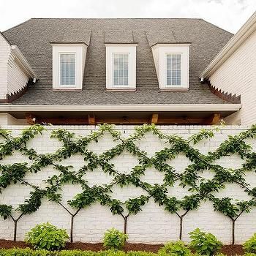
{"type": "Polygon", "coordinates": [[[159,89],[189,89],[189,44],[157,43],[151,48],[159,89]]]}

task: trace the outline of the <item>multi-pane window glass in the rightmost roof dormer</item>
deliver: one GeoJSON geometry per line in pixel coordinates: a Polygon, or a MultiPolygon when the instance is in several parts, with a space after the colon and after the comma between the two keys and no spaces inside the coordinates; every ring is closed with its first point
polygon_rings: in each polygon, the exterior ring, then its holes
{"type": "Polygon", "coordinates": [[[167,54],[166,61],[167,86],[181,86],[181,54],[167,54]]]}

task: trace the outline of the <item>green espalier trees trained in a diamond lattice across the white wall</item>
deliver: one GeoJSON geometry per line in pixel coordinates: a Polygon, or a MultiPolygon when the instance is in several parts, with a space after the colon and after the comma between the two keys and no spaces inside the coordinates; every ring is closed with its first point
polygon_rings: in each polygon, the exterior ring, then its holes
{"type": "Polygon", "coordinates": [[[24,129],[19,136],[13,137],[9,131],[0,129],[0,192],[13,184],[31,188],[29,198],[26,198],[24,203],[17,208],[0,204],[0,216],[4,219],[10,218],[14,222],[14,240],[16,240],[18,221],[23,215],[37,211],[43,198],[58,204],[69,214],[70,241],[73,241],[75,217],[80,211],[89,208],[94,203],[99,203],[107,207],[112,214],[120,216],[124,220],[124,233],[127,233],[129,216],[143,211],[143,206],[149,200],[154,200],[170,214],[176,214],[179,219],[178,238],[182,239],[184,218],[190,211],[200,208],[202,202],[209,200],[213,203],[214,210],[231,219],[234,244],[236,220],[241,214],[248,213],[256,206],[256,188],[250,187],[245,182],[246,172],[256,169],[255,152],[252,152],[252,147],[246,142],[250,138],[255,139],[256,126],[252,126],[251,129],[241,132],[239,135],[229,136],[215,151],[208,152],[208,154],[200,153],[194,145],[201,140],[213,138],[214,129],[203,129],[187,139],[177,135],[165,135],[154,124],[145,124],[135,128],[135,132],[128,138],[123,138],[121,132],[116,131],[113,126],[108,124],[99,126],[97,131],[84,137],[76,137],[74,133],[66,129],[56,129],[53,130],[50,138],[59,140],[62,146],[51,154],[37,154],[37,151],[29,148],[27,143],[44,130],[45,127],[34,125],[24,129]],[[97,143],[106,132],[112,136],[116,146],[102,154],[89,151],[89,144],[97,143]],[[156,152],[153,157],[148,157],[148,154],[137,146],[148,132],[156,135],[165,145],[165,148],[156,152]],[[12,165],[1,164],[1,159],[11,156],[15,151],[20,151],[24,155],[24,159],[28,157],[30,162],[12,165]],[[124,152],[129,152],[138,159],[138,165],[132,167],[129,173],[122,173],[113,164],[115,157],[124,152]],[[69,159],[75,154],[80,154],[84,159],[84,165],[80,169],[74,170],[72,166],[61,165],[63,159],[69,159]],[[176,171],[168,164],[178,154],[184,154],[191,162],[183,172],[176,171]],[[229,169],[215,163],[217,159],[231,154],[238,154],[241,159],[244,159],[244,164],[240,168],[229,169]],[[44,167],[55,170],[54,173],[57,173],[48,177],[46,181],[42,181],[45,182],[44,189],[26,181],[26,173],[38,173],[44,167]],[[109,184],[89,186],[89,182],[86,181],[86,173],[93,172],[98,168],[107,173],[112,181],[109,184]],[[142,181],[141,177],[145,175],[147,168],[154,168],[164,175],[161,184],[149,184],[142,181]],[[213,172],[214,177],[202,178],[200,173],[206,170],[213,172]],[[62,197],[64,184],[77,184],[82,191],[74,195],[71,200],[64,202],[62,197]],[[187,194],[179,199],[169,195],[168,192],[168,189],[176,184],[187,189],[187,194]],[[244,189],[244,193],[250,199],[239,201],[230,197],[219,198],[218,193],[225,189],[227,184],[237,184],[244,189]],[[143,189],[143,195],[121,201],[113,198],[113,189],[116,186],[139,187],[143,189]]]}

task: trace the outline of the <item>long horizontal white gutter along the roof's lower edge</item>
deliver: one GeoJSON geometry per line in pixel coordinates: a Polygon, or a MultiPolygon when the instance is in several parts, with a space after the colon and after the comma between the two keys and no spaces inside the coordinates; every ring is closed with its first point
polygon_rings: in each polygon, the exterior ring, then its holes
{"type": "Polygon", "coordinates": [[[238,111],[241,104],[0,105],[0,112],[238,111]]]}

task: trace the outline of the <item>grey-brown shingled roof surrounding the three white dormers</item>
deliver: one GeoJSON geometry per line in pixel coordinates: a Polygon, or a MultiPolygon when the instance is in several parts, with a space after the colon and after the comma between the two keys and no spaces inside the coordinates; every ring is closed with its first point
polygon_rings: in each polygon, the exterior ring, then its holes
{"type": "Polygon", "coordinates": [[[31,19],[4,32],[39,76],[12,104],[227,103],[201,85],[198,76],[232,37],[201,19],[31,19]],[[75,38],[76,37],[76,38],[75,38]],[[82,91],[53,91],[50,42],[89,42],[82,91]],[[137,91],[106,91],[105,42],[137,42],[137,91]],[[151,45],[191,42],[189,91],[159,91],[151,45]]]}

